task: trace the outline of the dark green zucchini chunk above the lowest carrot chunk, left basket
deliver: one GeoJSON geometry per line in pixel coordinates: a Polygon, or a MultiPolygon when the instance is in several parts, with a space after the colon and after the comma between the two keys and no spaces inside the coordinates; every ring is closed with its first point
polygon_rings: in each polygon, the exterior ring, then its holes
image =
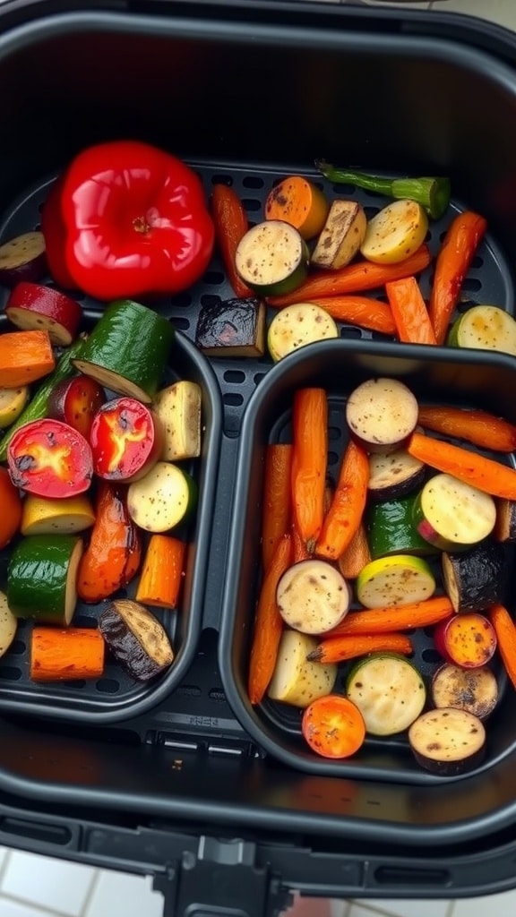
{"type": "Polygon", "coordinates": [[[21,538],[9,559],[7,602],[17,618],[39,624],[71,623],[77,603],[77,569],[83,541],[73,535],[21,538]]]}

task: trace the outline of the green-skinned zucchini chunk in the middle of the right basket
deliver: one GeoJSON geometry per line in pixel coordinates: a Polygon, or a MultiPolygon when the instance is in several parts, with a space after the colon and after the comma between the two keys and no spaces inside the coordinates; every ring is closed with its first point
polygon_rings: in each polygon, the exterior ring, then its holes
{"type": "Polygon", "coordinates": [[[418,532],[414,522],[415,496],[399,500],[372,503],[367,513],[367,528],[371,557],[385,558],[390,554],[435,553],[435,548],[418,532]]]}

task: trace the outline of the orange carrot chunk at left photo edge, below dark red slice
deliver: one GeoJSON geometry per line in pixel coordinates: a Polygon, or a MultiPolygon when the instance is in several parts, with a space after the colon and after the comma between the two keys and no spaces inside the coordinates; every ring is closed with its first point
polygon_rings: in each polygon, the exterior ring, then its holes
{"type": "Polygon", "coordinates": [[[17,389],[55,369],[48,331],[10,331],[0,335],[0,387],[17,389]]]}

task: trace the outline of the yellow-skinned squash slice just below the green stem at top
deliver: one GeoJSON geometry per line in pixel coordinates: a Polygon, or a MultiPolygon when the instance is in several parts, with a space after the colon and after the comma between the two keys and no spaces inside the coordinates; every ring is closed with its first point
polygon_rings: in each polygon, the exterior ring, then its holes
{"type": "Polygon", "coordinates": [[[421,247],[427,231],[428,216],[421,204],[394,201],[369,220],[360,250],[368,261],[397,264],[421,247]]]}

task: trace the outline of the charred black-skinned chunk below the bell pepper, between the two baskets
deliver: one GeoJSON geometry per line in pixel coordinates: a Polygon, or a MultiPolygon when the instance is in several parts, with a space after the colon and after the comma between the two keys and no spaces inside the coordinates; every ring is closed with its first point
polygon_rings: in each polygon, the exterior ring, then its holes
{"type": "Polygon", "coordinates": [[[266,307],[263,299],[227,299],[201,305],[196,347],[207,357],[263,357],[266,307]]]}

